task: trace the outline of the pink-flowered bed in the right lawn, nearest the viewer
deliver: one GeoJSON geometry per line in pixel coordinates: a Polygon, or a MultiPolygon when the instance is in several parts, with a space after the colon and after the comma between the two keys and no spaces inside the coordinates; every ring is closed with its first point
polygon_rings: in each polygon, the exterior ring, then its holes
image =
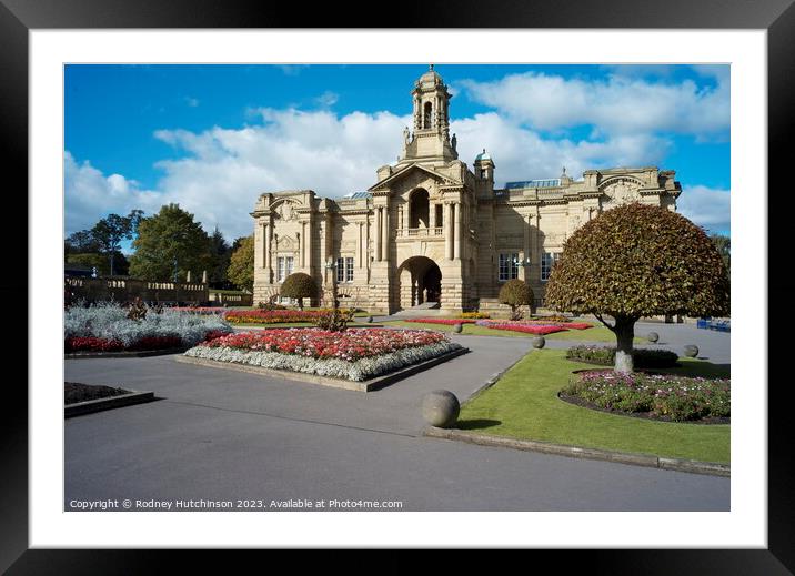
{"type": "Polygon", "coordinates": [[[561,391],[603,410],[674,422],[731,416],[731,381],[582,372],[561,391]]]}

